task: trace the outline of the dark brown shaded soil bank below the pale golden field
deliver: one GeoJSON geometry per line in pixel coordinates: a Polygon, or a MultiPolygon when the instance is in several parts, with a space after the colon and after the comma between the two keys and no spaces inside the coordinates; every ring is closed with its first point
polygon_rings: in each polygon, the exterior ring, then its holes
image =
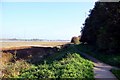
{"type": "Polygon", "coordinates": [[[57,47],[16,47],[2,49],[2,61],[14,62],[17,60],[27,60],[31,63],[40,61],[43,57],[50,56],[59,50],[57,47]],[[11,56],[12,55],[12,56],[11,56]],[[8,59],[6,59],[8,58],[8,59]],[[6,61],[7,60],[7,61],[6,61]]]}

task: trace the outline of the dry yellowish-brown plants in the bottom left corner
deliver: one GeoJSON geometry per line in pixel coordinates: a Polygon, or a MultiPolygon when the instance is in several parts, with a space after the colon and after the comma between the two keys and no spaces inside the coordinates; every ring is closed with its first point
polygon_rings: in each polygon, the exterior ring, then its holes
{"type": "Polygon", "coordinates": [[[29,69],[30,64],[27,63],[25,60],[19,60],[15,63],[8,62],[5,64],[4,68],[2,69],[3,78],[11,78],[16,77],[19,75],[22,69],[29,69]]]}

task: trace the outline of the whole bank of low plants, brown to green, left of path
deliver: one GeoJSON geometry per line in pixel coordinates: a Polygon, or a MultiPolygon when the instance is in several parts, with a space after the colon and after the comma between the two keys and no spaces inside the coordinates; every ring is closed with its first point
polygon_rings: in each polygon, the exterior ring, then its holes
{"type": "Polygon", "coordinates": [[[63,46],[37,63],[11,62],[3,72],[3,78],[94,78],[93,63],[81,57],[72,45],[63,46]]]}

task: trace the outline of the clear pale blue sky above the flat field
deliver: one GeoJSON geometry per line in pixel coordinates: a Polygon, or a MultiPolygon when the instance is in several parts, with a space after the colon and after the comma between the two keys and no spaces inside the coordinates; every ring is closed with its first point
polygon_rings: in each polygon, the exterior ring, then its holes
{"type": "Polygon", "coordinates": [[[95,2],[1,2],[0,37],[62,39],[79,36],[95,2]]]}

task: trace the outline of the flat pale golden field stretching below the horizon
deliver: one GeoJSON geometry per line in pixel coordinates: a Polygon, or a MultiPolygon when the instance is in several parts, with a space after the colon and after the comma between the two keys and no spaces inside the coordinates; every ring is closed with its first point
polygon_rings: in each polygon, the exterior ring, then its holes
{"type": "Polygon", "coordinates": [[[30,45],[37,45],[37,46],[57,46],[57,45],[64,45],[68,42],[43,42],[43,41],[20,41],[20,42],[0,42],[0,49],[4,48],[11,48],[11,47],[20,47],[20,46],[30,46],[30,45]]]}

